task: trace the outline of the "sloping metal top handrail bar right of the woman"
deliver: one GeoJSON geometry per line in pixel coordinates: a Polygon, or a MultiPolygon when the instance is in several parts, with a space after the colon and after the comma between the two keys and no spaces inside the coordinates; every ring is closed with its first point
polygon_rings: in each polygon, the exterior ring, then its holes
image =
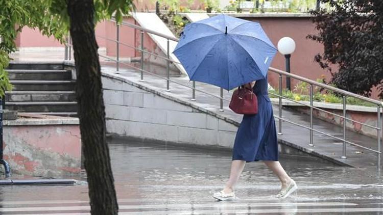
{"type": "Polygon", "coordinates": [[[273,72],[276,72],[278,74],[282,74],[284,76],[288,76],[288,77],[292,77],[292,78],[295,78],[295,79],[298,79],[298,80],[302,80],[303,82],[306,82],[306,83],[309,83],[309,84],[312,84],[312,85],[315,85],[315,86],[318,86],[318,87],[322,87],[322,88],[325,88],[327,90],[331,90],[331,91],[334,91],[334,92],[337,92],[337,93],[340,93],[340,94],[343,94],[343,95],[346,95],[346,96],[352,96],[352,97],[355,97],[355,98],[358,98],[358,99],[361,99],[361,100],[365,100],[365,101],[368,101],[368,102],[371,102],[371,103],[374,103],[374,104],[377,104],[377,105],[380,105],[380,106],[383,105],[383,102],[381,102],[381,101],[378,101],[378,100],[375,100],[375,99],[372,99],[372,98],[367,98],[367,97],[364,97],[364,96],[361,96],[361,95],[358,95],[358,94],[355,94],[355,93],[351,93],[351,92],[348,92],[348,91],[345,91],[345,90],[341,90],[339,88],[331,87],[331,86],[328,86],[328,85],[316,82],[315,80],[311,80],[311,79],[308,79],[308,78],[305,78],[305,77],[302,77],[302,76],[298,76],[298,75],[295,75],[295,74],[292,74],[292,73],[289,73],[289,72],[285,72],[285,71],[280,70],[280,69],[276,69],[276,68],[270,67],[269,70],[273,71],[273,72]]]}

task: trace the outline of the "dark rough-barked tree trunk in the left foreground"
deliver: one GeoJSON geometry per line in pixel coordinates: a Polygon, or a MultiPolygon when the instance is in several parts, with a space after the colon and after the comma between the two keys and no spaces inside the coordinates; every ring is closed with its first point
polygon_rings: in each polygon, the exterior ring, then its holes
{"type": "Polygon", "coordinates": [[[93,0],[71,0],[67,4],[77,71],[78,113],[91,213],[117,214],[114,179],[105,137],[105,106],[98,45],[94,35],[93,0]]]}

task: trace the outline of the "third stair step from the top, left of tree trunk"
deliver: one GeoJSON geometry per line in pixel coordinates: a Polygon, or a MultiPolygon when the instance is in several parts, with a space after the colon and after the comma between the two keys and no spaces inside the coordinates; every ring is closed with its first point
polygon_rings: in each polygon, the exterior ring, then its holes
{"type": "Polygon", "coordinates": [[[11,80],[15,91],[73,91],[74,80],[11,80]]]}

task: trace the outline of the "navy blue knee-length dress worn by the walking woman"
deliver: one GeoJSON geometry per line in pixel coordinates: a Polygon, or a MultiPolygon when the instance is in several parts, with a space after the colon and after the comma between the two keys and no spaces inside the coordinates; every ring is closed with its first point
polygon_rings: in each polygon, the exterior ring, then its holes
{"type": "Polygon", "coordinates": [[[253,92],[258,98],[258,114],[244,115],[235,136],[232,160],[278,160],[278,142],[273,107],[266,79],[257,80],[253,92]]]}

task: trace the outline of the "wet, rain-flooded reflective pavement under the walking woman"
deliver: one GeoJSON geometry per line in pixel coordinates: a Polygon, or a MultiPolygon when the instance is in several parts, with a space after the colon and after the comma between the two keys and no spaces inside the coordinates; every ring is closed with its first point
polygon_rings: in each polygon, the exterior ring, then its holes
{"type": "MultiPolygon", "coordinates": [[[[297,195],[274,198],[278,179],[264,164],[248,163],[237,199],[220,202],[211,194],[227,180],[230,152],[121,140],[109,146],[119,214],[383,214],[383,181],[375,168],[281,155],[297,195]]],[[[0,214],[89,214],[88,205],[85,183],[0,187],[0,214]]]]}

